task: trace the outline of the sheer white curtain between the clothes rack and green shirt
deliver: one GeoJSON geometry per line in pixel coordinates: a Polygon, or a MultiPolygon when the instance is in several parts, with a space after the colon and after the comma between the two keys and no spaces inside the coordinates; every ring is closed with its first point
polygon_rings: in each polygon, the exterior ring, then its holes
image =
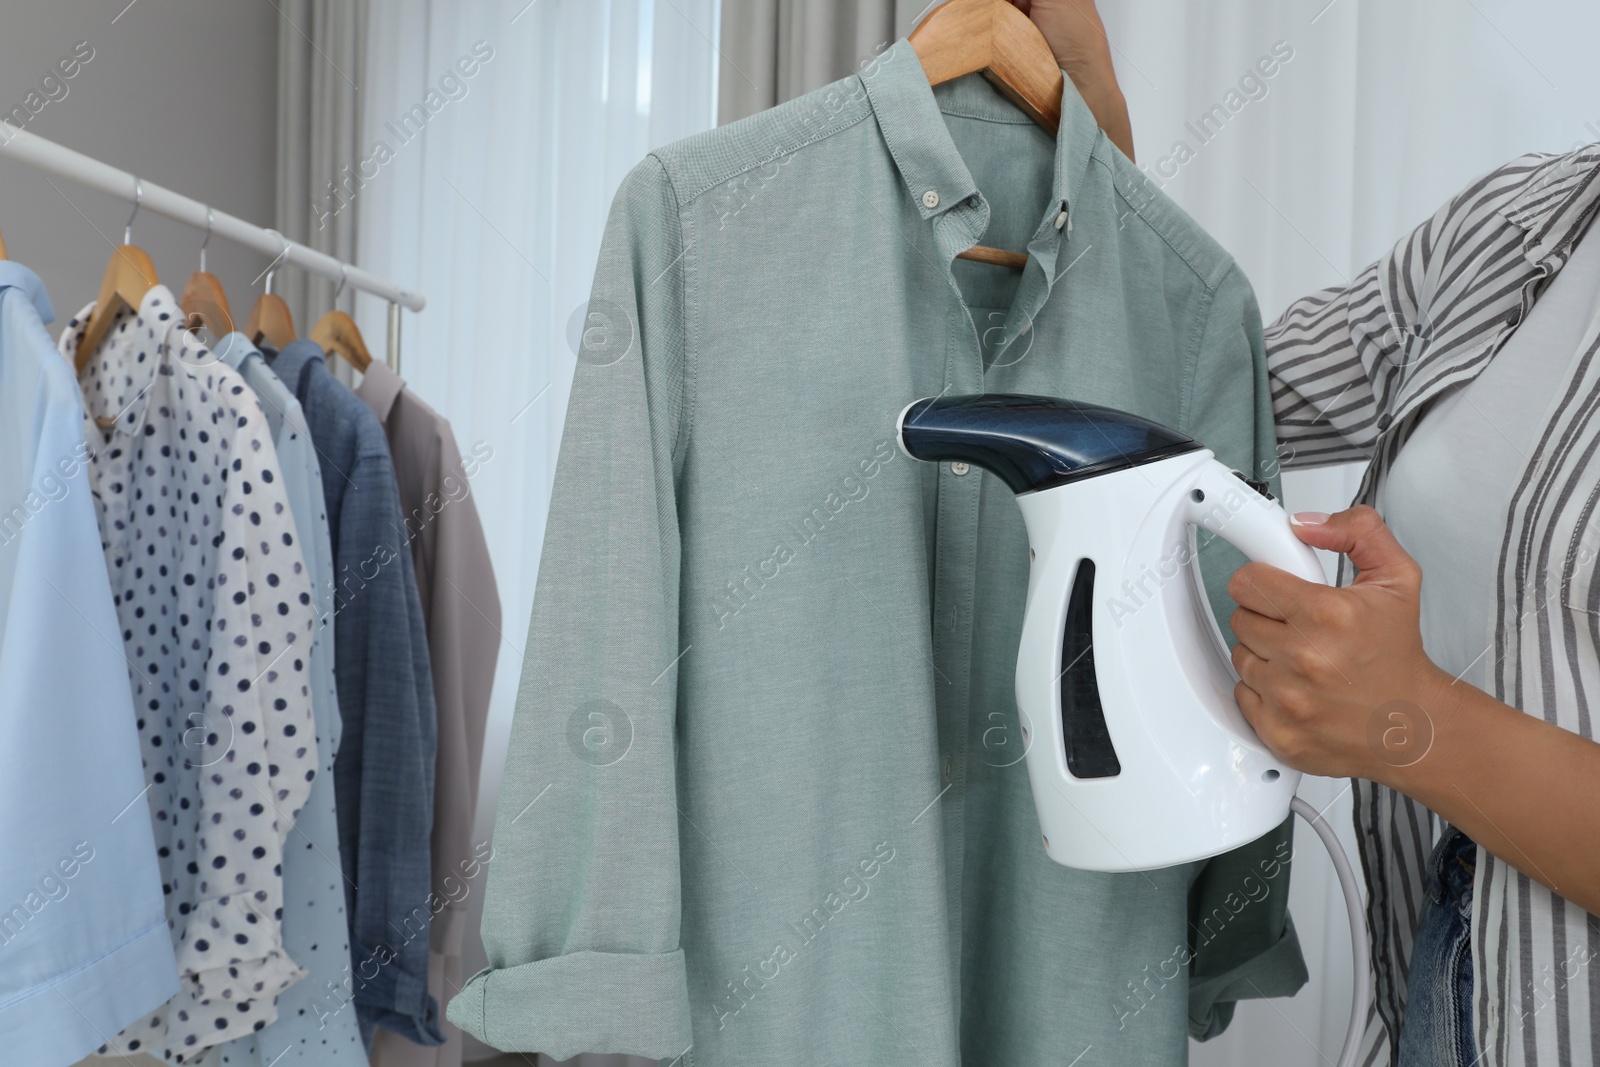
{"type": "MultiPolygon", "coordinates": [[[[427,296],[403,314],[402,376],[464,451],[491,450],[472,493],[504,640],[478,840],[606,208],[648,150],[715,123],[717,34],[715,0],[390,0],[370,21],[358,262],[427,296]]],[[[362,296],[355,315],[379,354],[386,307],[362,296]]],[[[482,907],[482,883],[474,893],[482,907]]],[[[480,965],[469,955],[466,971],[480,965]]]]}

